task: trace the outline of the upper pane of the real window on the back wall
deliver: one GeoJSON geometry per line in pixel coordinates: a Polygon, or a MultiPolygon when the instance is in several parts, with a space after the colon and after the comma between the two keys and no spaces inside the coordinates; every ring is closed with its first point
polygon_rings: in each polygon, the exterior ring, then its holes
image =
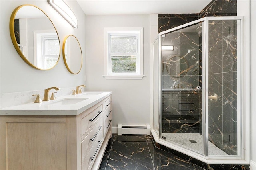
{"type": "Polygon", "coordinates": [[[137,53],[136,36],[111,36],[110,53],[137,53]]]}

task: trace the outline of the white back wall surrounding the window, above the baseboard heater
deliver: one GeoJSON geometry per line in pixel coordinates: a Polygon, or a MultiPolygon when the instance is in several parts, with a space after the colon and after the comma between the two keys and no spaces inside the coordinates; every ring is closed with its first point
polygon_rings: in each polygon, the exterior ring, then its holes
{"type": "Polygon", "coordinates": [[[112,126],[150,124],[150,15],[87,16],[87,90],[112,91],[112,126]],[[143,27],[142,80],[106,80],[104,27],[143,27]]]}

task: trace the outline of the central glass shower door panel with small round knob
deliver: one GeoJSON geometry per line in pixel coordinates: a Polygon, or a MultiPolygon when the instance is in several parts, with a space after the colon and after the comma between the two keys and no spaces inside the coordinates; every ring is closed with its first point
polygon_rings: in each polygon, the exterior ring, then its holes
{"type": "Polygon", "coordinates": [[[161,36],[162,139],[204,154],[202,23],[161,36]]]}

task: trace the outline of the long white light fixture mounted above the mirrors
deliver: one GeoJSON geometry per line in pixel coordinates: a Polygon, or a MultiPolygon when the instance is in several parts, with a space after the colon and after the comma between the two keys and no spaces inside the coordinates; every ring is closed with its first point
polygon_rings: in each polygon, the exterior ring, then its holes
{"type": "Polygon", "coordinates": [[[77,28],[77,19],[74,12],[63,0],[48,0],[48,3],[63,17],[70,25],[77,28]]]}

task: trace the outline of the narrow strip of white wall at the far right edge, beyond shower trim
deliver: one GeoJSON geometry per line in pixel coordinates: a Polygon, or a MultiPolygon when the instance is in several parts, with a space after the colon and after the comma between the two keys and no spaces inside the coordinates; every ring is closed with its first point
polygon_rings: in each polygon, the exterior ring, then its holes
{"type": "Polygon", "coordinates": [[[251,164],[250,170],[256,170],[256,1],[251,0],[251,164]]]}

